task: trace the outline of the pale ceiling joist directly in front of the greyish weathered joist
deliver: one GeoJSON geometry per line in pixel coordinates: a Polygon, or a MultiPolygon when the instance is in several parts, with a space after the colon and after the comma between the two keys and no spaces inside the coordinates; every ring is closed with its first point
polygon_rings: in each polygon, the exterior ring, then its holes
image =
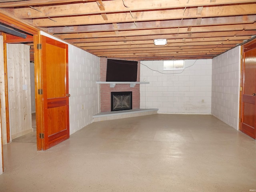
{"type": "MultiPolygon", "coordinates": [[[[240,6],[228,5],[217,7],[204,7],[200,18],[209,17],[223,17],[223,16],[240,16],[242,12],[246,10],[247,15],[255,14],[256,4],[244,4],[240,6]],[[221,10],[221,11],[220,11],[221,10]]],[[[150,20],[174,20],[195,18],[197,8],[187,8],[184,12],[183,9],[171,9],[171,10],[154,10],[154,11],[138,11],[133,12],[133,16],[130,12],[110,13],[108,14],[108,20],[104,20],[99,15],[84,15],[84,16],[68,16],[55,17],[54,21],[49,18],[34,18],[32,24],[38,27],[53,27],[53,26],[74,26],[74,25],[89,25],[89,24],[107,24],[107,23],[123,23],[123,22],[139,22],[150,20]]]]}

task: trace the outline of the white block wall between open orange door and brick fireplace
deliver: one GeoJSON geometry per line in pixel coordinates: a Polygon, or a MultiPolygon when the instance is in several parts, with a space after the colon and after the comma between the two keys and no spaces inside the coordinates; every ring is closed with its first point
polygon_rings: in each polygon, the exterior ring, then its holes
{"type": "Polygon", "coordinates": [[[98,111],[100,58],[72,45],[68,46],[70,134],[93,122],[98,111]]]}

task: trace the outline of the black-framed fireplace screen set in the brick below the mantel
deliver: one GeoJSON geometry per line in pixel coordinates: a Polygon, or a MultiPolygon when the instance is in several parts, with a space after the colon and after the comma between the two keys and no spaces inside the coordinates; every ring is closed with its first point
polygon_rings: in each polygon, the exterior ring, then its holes
{"type": "Polygon", "coordinates": [[[111,92],[111,111],[132,109],[132,92],[111,92]]]}

